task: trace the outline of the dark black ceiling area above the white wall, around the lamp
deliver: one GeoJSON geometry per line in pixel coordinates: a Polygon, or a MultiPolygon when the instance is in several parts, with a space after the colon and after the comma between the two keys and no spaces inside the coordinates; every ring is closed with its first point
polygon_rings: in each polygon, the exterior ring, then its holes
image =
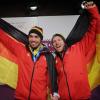
{"type": "MultiPolygon", "coordinates": [[[[80,14],[83,0],[0,0],[0,17],[30,17],[80,14]],[[33,2],[36,11],[29,10],[33,2]]],[[[87,0],[89,1],[89,0],[87,0]]],[[[100,0],[94,0],[100,9],[100,0]]]]}

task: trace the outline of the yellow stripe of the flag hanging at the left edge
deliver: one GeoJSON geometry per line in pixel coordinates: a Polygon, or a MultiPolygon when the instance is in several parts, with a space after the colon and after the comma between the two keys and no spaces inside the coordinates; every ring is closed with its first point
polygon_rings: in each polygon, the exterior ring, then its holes
{"type": "Polygon", "coordinates": [[[18,65],[0,56],[0,83],[16,88],[18,79],[18,65]]]}

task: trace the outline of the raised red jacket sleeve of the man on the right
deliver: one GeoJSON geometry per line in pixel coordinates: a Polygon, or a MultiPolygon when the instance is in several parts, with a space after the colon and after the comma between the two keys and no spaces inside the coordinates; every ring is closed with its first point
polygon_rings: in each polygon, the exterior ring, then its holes
{"type": "Polygon", "coordinates": [[[97,7],[88,9],[90,15],[90,24],[87,32],[83,39],[79,42],[79,47],[83,51],[84,55],[87,55],[91,46],[95,45],[96,40],[96,24],[99,18],[99,13],[97,7]]]}

